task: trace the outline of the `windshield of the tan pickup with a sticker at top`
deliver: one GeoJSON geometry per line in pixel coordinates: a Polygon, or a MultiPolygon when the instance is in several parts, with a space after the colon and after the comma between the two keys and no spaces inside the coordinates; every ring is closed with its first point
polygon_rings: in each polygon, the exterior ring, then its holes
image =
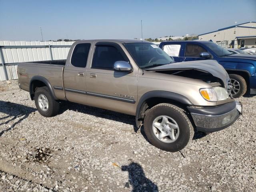
{"type": "Polygon", "coordinates": [[[126,43],[124,46],[140,68],[166,65],[174,62],[174,60],[156,44],[126,43]]]}

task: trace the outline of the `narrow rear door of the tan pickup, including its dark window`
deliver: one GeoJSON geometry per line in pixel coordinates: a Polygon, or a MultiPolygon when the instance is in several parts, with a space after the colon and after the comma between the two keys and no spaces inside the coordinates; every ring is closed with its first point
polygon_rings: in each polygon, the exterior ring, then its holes
{"type": "Polygon", "coordinates": [[[66,61],[63,79],[68,101],[87,104],[85,81],[90,47],[90,43],[77,44],[71,59],[66,61]]]}

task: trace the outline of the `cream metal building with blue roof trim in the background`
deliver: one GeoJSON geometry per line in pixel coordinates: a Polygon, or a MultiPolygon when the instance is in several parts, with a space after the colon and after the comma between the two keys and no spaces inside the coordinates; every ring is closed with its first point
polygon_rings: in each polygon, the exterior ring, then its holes
{"type": "Polygon", "coordinates": [[[256,47],[256,22],[246,22],[198,35],[226,48],[256,47]]]}

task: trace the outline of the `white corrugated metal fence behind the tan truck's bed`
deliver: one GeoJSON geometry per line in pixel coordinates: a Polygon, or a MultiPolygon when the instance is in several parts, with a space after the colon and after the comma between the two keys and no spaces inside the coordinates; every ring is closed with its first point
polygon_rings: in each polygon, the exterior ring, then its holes
{"type": "Polygon", "coordinates": [[[0,81],[17,79],[19,62],[66,59],[73,43],[0,41],[0,81]]]}

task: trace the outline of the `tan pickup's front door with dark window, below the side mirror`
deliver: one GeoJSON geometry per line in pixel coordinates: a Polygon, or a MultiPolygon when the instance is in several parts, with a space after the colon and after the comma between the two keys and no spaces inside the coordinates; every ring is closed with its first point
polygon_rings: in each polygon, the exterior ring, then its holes
{"type": "Polygon", "coordinates": [[[120,45],[113,42],[96,43],[91,67],[86,72],[88,105],[134,114],[138,71],[114,71],[116,61],[129,62],[120,45]]]}

